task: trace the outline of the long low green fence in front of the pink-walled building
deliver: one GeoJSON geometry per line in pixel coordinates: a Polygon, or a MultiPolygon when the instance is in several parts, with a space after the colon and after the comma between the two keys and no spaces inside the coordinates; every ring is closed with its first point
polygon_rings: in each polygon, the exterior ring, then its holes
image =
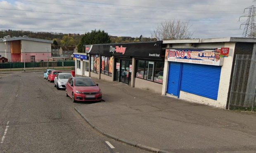
{"type": "MultiPolygon", "coordinates": [[[[49,62],[49,66],[75,66],[75,61],[49,62]]],[[[24,63],[1,63],[0,69],[23,68],[24,63]]],[[[25,67],[47,67],[47,62],[25,63],[25,67]]]]}

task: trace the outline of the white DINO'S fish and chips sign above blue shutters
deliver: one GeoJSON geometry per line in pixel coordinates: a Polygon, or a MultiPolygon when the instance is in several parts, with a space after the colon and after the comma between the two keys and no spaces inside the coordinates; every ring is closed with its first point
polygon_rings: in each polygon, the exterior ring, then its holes
{"type": "Polygon", "coordinates": [[[165,60],[204,65],[223,65],[221,49],[166,49],[165,60]]]}

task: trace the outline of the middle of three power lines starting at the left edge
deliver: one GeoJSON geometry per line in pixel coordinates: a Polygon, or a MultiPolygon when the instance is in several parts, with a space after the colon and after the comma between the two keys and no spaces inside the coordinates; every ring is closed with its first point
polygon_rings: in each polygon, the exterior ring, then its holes
{"type": "MultiPolygon", "coordinates": [[[[75,21],[75,22],[101,22],[101,23],[149,23],[158,24],[159,22],[124,22],[124,21],[89,21],[89,20],[64,20],[64,19],[43,19],[43,18],[28,18],[28,17],[13,17],[13,16],[0,16],[2,18],[14,18],[14,19],[34,19],[34,20],[53,20],[53,21],[75,21]]],[[[237,21],[223,21],[218,23],[230,23],[237,21]]],[[[191,23],[213,23],[213,22],[191,22],[191,23]]]]}

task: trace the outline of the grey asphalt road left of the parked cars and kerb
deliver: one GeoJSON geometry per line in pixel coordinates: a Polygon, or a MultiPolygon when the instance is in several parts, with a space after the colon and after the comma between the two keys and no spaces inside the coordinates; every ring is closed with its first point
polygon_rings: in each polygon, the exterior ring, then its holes
{"type": "Polygon", "coordinates": [[[43,72],[0,74],[0,153],[143,153],[92,130],[43,72]],[[114,148],[107,145],[109,141],[114,148]]]}

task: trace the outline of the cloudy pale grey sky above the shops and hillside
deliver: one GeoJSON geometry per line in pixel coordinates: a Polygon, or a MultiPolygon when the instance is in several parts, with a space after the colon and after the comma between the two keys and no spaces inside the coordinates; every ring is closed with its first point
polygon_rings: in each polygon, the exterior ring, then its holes
{"type": "Polygon", "coordinates": [[[1,30],[150,37],[168,20],[190,22],[193,38],[241,37],[253,0],[0,0],[1,30]]]}

